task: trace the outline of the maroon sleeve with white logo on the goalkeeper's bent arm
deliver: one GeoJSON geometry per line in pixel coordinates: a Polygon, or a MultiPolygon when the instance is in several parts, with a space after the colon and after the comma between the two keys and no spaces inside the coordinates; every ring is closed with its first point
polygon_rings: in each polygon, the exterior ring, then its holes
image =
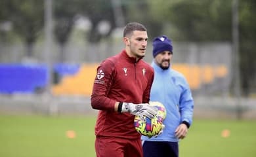
{"type": "Polygon", "coordinates": [[[113,81],[114,63],[104,60],[97,68],[91,95],[91,107],[98,110],[114,111],[115,100],[107,97],[113,81]]]}

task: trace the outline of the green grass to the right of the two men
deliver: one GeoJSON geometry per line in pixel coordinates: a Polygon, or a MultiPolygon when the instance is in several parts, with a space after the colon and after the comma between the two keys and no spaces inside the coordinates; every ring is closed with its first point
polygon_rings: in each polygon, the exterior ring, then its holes
{"type": "Polygon", "coordinates": [[[256,156],[256,122],[194,120],[186,139],[180,142],[181,156],[256,156]],[[229,130],[229,137],[222,137],[229,130]]]}

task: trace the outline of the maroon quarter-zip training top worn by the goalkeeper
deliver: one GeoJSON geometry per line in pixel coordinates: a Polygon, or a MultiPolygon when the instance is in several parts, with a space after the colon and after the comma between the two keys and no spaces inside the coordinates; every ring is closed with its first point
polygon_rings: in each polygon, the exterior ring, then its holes
{"type": "Polygon", "coordinates": [[[116,101],[148,103],[154,69],[143,60],[136,62],[125,50],[102,61],[91,95],[91,106],[100,110],[95,135],[128,139],[140,138],[135,130],[133,114],[114,111],[116,101]]]}

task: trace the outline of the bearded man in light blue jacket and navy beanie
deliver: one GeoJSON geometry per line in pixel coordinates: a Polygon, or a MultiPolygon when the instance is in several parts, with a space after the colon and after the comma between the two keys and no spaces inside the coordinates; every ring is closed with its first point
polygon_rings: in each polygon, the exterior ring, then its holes
{"type": "Polygon", "coordinates": [[[165,128],[158,137],[142,136],[144,157],[179,156],[179,140],[184,139],[192,124],[194,100],[185,77],[171,69],[173,46],[165,35],[153,41],[152,67],[154,82],[150,101],[160,101],[165,106],[167,116],[163,120],[165,128]]]}

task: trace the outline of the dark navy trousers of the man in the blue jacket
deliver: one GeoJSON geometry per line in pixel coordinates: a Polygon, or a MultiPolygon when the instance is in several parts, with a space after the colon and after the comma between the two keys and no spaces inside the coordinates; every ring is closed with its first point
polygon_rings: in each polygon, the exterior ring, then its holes
{"type": "Polygon", "coordinates": [[[144,157],[178,157],[179,144],[177,142],[143,141],[144,157]]]}

